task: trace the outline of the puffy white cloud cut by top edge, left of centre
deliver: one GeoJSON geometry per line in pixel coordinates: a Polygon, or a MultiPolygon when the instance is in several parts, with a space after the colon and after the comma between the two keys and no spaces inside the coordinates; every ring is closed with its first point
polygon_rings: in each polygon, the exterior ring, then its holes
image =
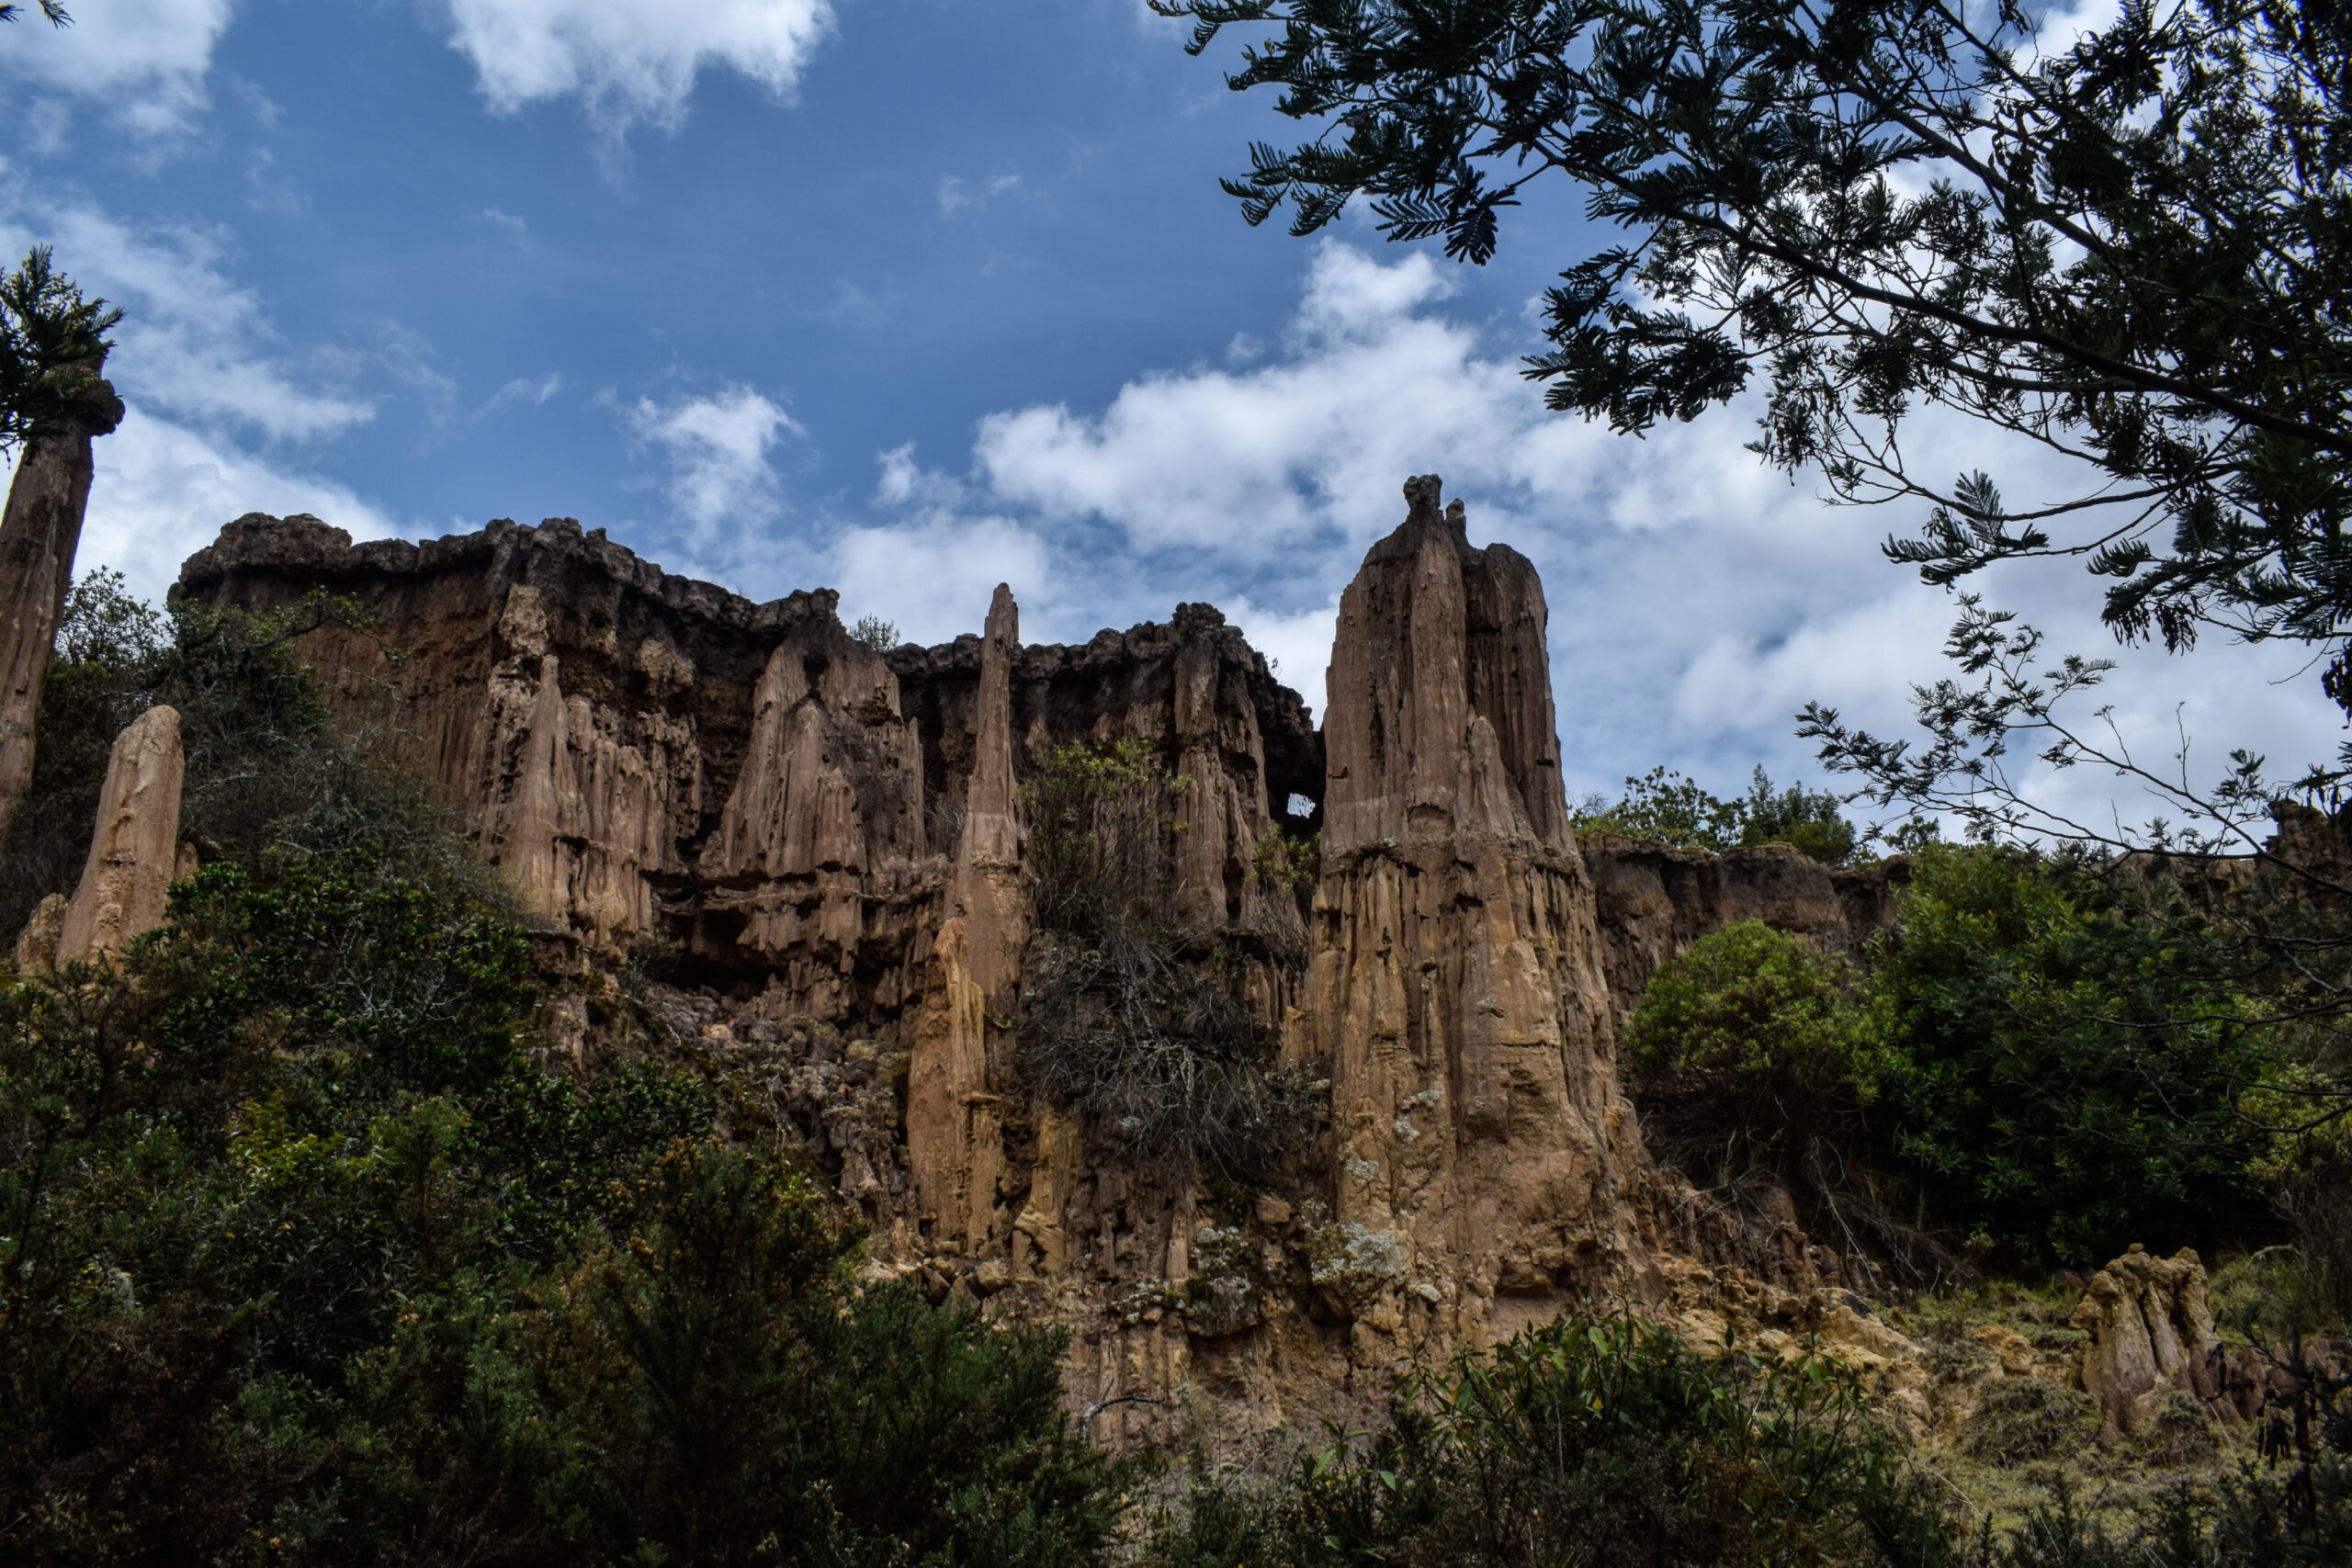
{"type": "Polygon", "coordinates": [[[616,134],[675,127],[706,66],[788,96],[833,28],[830,0],[447,0],[447,9],[449,42],[492,108],[579,96],[616,134]]]}

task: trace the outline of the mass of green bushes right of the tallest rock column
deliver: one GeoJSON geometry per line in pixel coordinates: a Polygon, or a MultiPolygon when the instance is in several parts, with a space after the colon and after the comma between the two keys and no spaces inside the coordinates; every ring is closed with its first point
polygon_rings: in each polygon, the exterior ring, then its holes
{"type": "Polygon", "coordinates": [[[1703,1180],[1790,1190],[1816,1232],[1929,1274],[1955,1253],[2093,1267],[2129,1241],[2281,1227],[2345,1274],[2340,1206],[2293,1178],[2345,1168],[2352,1124],[2321,1093],[2340,1067],[2190,914],[2157,922],[2119,896],[2147,875],[1929,846],[1860,961],[1755,922],[1700,938],[1625,1037],[1651,1138],[1703,1180]]]}

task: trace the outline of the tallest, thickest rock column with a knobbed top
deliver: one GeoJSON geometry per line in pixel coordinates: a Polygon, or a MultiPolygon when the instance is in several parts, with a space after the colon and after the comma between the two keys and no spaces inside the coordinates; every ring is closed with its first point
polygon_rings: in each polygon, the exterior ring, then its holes
{"type": "Polygon", "coordinates": [[[1319,1284],[1364,1328],[1482,1333],[1637,1260],[1644,1164],[1559,780],[1543,583],[1505,545],[1472,550],[1435,475],[1404,494],[1341,599],[1291,1048],[1331,1072],[1319,1284]]]}

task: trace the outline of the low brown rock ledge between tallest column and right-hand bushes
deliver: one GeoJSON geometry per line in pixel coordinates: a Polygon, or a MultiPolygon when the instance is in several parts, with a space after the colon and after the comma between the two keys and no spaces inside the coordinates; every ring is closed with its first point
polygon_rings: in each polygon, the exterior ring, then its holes
{"type": "Polygon", "coordinates": [[[1618,835],[1578,839],[1592,872],[1602,971],[1616,1023],[1670,957],[1740,919],[1802,936],[1823,952],[1858,952],[1893,917],[1910,879],[1903,858],[1832,870],[1788,844],[1677,849],[1618,835]]]}

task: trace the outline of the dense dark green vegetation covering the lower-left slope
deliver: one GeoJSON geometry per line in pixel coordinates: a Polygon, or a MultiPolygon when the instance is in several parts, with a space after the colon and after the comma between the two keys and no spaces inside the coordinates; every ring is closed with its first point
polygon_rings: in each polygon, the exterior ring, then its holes
{"type": "Polygon", "coordinates": [[[212,863],[120,964],[0,992],[12,1561],[1098,1552],[1056,1333],[858,1286],[856,1225],[687,1065],[539,1065],[527,933],[287,625],[80,607],[56,712],[202,715],[212,863]]]}

